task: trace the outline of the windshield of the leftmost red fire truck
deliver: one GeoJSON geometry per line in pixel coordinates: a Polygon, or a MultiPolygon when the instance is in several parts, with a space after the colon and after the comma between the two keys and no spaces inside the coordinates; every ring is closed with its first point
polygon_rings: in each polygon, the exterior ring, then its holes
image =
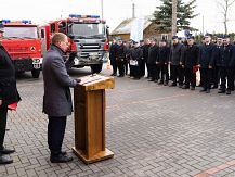
{"type": "Polygon", "coordinates": [[[5,26],[4,27],[4,37],[6,38],[28,38],[37,39],[38,31],[37,27],[22,27],[22,26],[5,26]]]}

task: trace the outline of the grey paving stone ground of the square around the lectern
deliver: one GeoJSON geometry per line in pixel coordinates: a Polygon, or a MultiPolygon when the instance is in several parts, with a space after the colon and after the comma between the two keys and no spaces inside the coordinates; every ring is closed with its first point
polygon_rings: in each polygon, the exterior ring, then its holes
{"type": "MultiPolygon", "coordinates": [[[[110,71],[102,72],[110,74],[110,71]]],[[[73,69],[79,77],[87,69],[73,69]]],[[[5,144],[13,164],[1,177],[235,177],[235,93],[210,94],[159,86],[142,78],[115,78],[107,90],[106,143],[114,159],[84,165],[71,153],[74,119],[68,117],[63,149],[75,160],[52,164],[42,110],[42,78],[17,79],[23,101],[9,113],[5,144]]]]}

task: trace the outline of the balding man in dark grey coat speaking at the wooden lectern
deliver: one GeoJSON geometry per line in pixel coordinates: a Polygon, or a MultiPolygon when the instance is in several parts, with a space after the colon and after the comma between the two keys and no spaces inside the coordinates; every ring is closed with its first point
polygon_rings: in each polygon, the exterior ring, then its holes
{"type": "Polygon", "coordinates": [[[52,163],[69,162],[73,157],[62,151],[67,116],[73,112],[69,87],[75,87],[80,80],[69,77],[67,69],[73,66],[76,54],[64,59],[68,48],[67,36],[55,33],[52,46],[42,62],[44,80],[43,112],[49,116],[48,144],[52,163]]]}

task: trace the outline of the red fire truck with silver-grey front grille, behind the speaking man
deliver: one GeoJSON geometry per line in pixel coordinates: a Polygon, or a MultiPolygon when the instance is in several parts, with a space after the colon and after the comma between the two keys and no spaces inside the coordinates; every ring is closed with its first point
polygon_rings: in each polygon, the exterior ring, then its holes
{"type": "Polygon", "coordinates": [[[68,52],[77,52],[74,67],[90,66],[93,73],[102,71],[109,48],[108,26],[104,20],[97,15],[71,14],[67,18],[50,22],[40,27],[43,53],[50,47],[51,36],[57,31],[69,37],[68,52]]]}

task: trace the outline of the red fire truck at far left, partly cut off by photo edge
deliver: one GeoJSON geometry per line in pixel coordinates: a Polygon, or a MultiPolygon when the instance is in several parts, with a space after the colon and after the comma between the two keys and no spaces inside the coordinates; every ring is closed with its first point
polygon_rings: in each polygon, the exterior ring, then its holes
{"type": "Polygon", "coordinates": [[[38,26],[26,20],[2,20],[0,23],[4,27],[2,45],[12,58],[16,73],[31,71],[32,77],[38,78],[42,63],[38,26]]]}

